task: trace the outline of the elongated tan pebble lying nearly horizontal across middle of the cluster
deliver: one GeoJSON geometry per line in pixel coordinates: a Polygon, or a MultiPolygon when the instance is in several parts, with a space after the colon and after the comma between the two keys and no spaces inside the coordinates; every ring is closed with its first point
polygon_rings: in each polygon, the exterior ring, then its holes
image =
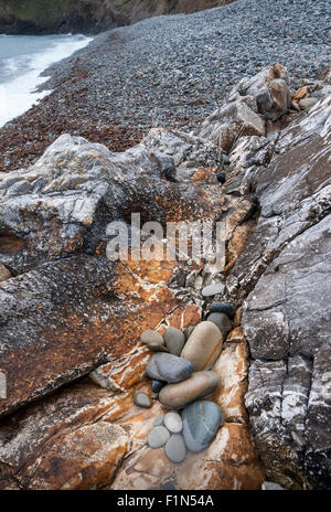
{"type": "Polygon", "coordinates": [[[211,395],[217,390],[220,382],[215,372],[194,372],[186,381],[164,386],[159,394],[159,401],[166,407],[178,409],[211,395]]]}

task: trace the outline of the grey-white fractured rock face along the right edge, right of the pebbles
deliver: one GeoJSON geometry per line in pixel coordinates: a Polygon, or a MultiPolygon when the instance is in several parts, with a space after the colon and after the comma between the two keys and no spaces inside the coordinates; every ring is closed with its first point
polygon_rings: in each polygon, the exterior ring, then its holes
{"type": "Polygon", "coordinates": [[[269,480],[295,489],[330,487],[330,116],[327,96],[280,132],[267,169],[245,170],[261,212],[228,279],[233,297],[249,294],[257,447],[269,480]]]}

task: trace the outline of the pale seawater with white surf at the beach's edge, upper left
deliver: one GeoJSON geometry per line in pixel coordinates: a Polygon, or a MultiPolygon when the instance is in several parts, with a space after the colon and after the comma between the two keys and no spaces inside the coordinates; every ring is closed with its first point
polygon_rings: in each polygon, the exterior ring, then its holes
{"type": "Polygon", "coordinates": [[[0,127],[26,111],[50,90],[36,92],[51,64],[86,46],[84,35],[0,34],[0,127]]]}

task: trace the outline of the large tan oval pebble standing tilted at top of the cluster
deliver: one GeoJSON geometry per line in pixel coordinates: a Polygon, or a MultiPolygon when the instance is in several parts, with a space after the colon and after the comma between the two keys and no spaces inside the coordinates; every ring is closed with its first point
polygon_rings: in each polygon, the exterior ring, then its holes
{"type": "Polygon", "coordinates": [[[212,367],[222,350],[223,338],[213,322],[200,322],[193,330],[181,353],[191,361],[194,371],[212,367]]]}

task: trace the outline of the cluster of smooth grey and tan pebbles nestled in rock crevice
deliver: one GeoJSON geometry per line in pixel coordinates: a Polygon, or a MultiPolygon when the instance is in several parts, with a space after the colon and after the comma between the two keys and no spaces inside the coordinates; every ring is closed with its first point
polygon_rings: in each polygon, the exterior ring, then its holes
{"type": "MultiPolygon", "coordinates": [[[[204,288],[203,296],[218,294],[220,286],[204,288]]],[[[205,449],[223,424],[220,407],[202,398],[212,395],[220,385],[220,376],[212,367],[234,316],[231,303],[213,302],[205,320],[195,327],[184,330],[168,327],[163,335],[149,329],[140,335],[141,342],[154,352],[146,370],[151,391],[170,409],[156,419],[148,445],[164,447],[172,462],[182,462],[188,450],[205,449]]],[[[134,402],[139,407],[152,406],[151,397],[142,392],[136,393],[134,402]]]]}

